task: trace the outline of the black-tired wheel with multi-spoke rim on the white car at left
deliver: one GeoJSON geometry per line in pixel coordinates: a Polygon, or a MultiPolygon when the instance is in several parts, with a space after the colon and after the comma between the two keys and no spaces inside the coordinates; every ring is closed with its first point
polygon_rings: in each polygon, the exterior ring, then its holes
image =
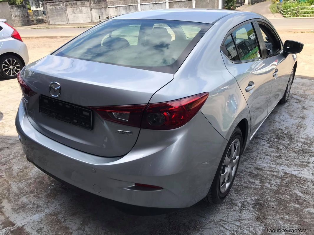
{"type": "Polygon", "coordinates": [[[17,72],[22,68],[22,61],[14,55],[4,55],[0,58],[0,74],[5,79],[16,78],[17,72]],[[12,68],[10,67],[10,64],[12,68]]]}

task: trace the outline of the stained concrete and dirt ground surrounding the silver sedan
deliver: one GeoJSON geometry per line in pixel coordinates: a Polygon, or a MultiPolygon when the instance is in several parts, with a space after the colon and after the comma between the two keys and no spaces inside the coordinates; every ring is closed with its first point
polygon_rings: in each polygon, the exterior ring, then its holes
{"type": "MultiPolygon", "coordinates": [[[[0,234],[299,234],[289,229],[314,234],[314,33],[280,35],[305,44],[298,55],[299,78],[289,101],[275,107],[247,147],[229,196],[220,205],[200,201],[158,216],[121,212],[30,164],[14,126],[18,83],[0,80],[0,234]]],[[[35,61],[69,39],[24,42],[35,61]]]]}

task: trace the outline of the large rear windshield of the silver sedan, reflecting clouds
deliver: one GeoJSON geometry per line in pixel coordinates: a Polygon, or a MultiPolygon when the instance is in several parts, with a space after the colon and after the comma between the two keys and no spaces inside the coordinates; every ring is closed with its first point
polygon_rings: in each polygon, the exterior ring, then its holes
{"type": "Polygon", "coordinates": [[[210,26],[176,20],[111,19],[52,55],[175,73],[210,26]]]}

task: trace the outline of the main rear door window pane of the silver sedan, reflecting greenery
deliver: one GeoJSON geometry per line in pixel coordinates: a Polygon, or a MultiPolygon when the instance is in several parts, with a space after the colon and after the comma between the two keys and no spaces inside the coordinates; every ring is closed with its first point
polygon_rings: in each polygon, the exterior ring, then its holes
{"type": "Polygon", "coordinates": [[[257,37],[252,24],[245,24],[232,32],[240,60],[252,60],[260,57],[257,37]]]}

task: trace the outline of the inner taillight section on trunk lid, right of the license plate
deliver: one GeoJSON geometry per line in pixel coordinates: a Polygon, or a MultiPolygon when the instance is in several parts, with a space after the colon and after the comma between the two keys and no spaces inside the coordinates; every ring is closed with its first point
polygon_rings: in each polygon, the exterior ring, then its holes
{"type": "Polygon", "coordinates": [[[90,107],[103,119],[122,123],[128,126],[140,127],[143,110],[146,104],[125,106],[96,106],[90,107]]]}

